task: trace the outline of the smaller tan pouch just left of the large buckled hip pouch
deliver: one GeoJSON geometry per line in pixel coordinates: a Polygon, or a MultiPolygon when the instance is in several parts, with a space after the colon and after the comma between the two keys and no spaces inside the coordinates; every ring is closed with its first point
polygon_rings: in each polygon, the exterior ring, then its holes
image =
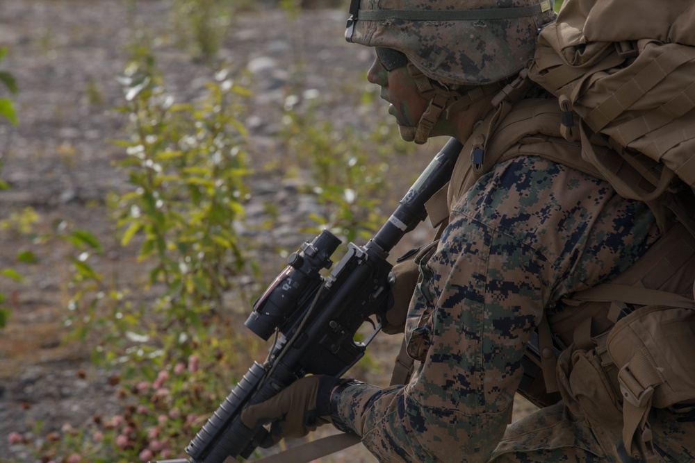
{"type": "MultiPolygon", "coordinates": [[[[605,334],[598,337],[603,345],[605,334]]],[[[613,369],[600,347],[578,348],[572,344],[557,359],[557,386],[564,403],[592,426],[619,426],[623,419],[621,397],[609,378],[613,369]]]]}

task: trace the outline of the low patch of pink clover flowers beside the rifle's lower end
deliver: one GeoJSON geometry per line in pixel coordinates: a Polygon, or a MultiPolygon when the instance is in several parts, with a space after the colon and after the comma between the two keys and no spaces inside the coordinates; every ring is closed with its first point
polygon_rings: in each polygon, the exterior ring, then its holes
{"type": "Polygon", "coordinates": [[[183,448],[240,378],[236,365],[250,364],[257,338],[206,339],[180,362],[164,365],[151,378],[109,378],[117,387],[121,411],[96,414],[80,428],[63,426],[43,439],[42,423],[31,433],[13,432],[10,442],[25,444],[36,460],[72,463],[126,463],[183,458],[183,448]],[[255,339],[255,340],[254,340],[255,339]]]}

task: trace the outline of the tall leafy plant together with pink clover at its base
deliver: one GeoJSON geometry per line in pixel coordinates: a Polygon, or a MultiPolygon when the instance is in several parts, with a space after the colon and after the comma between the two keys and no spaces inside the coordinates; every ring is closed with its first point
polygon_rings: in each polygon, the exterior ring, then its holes
{"type": "MultiPolygon", "coordinates": [[[[245,130],[237,116],[247,92],[220,72],[196,103],[168,96],[154,58],[138,49],[122,77],[131,137],[117,142],[131,191],[108,203],[120,244],[138,245],[142,287],[98,271],[101,244],[85,230],[56,224],[74,244],[67,323],[73,335],[99,339],[95,360],[118,364],[123,412],[37,442],[38,459],[131,462],[183,457],[213,410],[252,364],[261,342],[227,318],[231,290],[246,308],[243,273],[254,275],[252,243],[238,233],[248,189],[245,130]],[[147,296],[152,294],[152,296],[147,296]],[[96,335],[96,336],[95,336],[96,335]]],[[[37,430],[38,432],[38,430],[37,430]]]]}

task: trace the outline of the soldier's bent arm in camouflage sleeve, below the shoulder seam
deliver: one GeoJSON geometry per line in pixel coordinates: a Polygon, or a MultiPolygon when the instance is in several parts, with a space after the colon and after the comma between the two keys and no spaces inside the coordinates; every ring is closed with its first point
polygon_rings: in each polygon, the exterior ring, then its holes
{"type": "Polygon", "coordinates": [[[463,216],[449,226],[409,312],[411,346],[426,333],[413,380],[350,387],[339,401],[379,459],[475,461],[491,453],[512,410],[523,346],[542,313],[539,266],[547,264],[538,253],[503,233],[463,216]]]}

